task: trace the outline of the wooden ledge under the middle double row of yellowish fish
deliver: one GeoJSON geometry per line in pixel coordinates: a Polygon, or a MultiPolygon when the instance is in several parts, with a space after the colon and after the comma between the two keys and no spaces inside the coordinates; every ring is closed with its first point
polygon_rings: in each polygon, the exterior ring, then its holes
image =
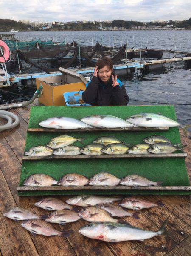
{"type": "Polygon", "coordinates": [[[186,153],[174,154],[123,154],[123,155],[50,155],[50,156],[23,156],[22,160],[53,160],[53,159],[105,159],[105,158],[175,158],[187,157],[186,153]]]}

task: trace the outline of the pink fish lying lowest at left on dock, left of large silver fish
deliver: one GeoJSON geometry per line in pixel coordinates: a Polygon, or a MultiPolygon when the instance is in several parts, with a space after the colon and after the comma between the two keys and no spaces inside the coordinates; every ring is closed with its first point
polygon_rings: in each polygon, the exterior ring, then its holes
{"type": "Polygon", "coordinates": [[[50,223],[40,219],[29,219],[21,223],[21,226],[26,230],[30,231],[32,235],[43,235],[43,236],[70,236],[72,231],[58,231],[53,228],[50,223]]]}

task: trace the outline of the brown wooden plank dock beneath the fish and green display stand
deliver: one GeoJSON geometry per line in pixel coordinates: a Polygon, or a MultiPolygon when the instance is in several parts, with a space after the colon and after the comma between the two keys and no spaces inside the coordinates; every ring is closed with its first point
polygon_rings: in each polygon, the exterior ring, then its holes
{"type": "MultiPolygon", "coordinates": [[[[37,101],[35,102],[37,105],[37,101]]],[[[123,220],[136,227],[157,231],[162,222],[169,217],[167,230],[171,236],[156,236],[145,241],[128,241],[118,243],[101,242],[88,239],[78,230],[87,224],[80,220],[60,226],[57,230],[73,230],[73,233],[62,238],[58,236],[33,236],[21,222],[5,218],[3,213],[13,207],[24,207],[37,214],[47,211],[34,206],[39,197],[18,197],[17,185],[20,180],[25,136],[28,129],[30,106],[11,110],[20,118],[20,126],[11,131],[0,133],[0,256],[190,256],[190,197],[189,196],[140,196],[153,202],[161,201],[163,207],[141,210],[140,219],[130,217],[123,220]]],[[[2,120],[1,120],[2,121],[2,120]]],[[[186,147],[185,158],[189,176],[191,176],[191,140],[183,136],[181,141],[186,147]]],[[[62,200],[68,196],[57,196],[62,200]]],[[[132,211],[133,212],[133,211],[132,211]]]]}

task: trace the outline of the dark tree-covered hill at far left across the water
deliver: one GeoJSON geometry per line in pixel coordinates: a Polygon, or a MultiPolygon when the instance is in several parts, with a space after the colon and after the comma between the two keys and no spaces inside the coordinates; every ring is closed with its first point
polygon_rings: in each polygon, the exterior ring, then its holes
{"type": "Polygon", "coordinates": [[[0,31],[10,31],[11,29],[27,31],[28,26],[22,22],[17,22],[15,20],[0,19],[0,31]]]}

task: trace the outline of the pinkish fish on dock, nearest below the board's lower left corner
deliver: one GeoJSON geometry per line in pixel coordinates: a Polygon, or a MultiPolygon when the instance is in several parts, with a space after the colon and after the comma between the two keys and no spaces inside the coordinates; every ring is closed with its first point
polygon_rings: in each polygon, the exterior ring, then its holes
{"type": "Polygon", "coordinates": [[[66,204],[62,200],[53,198],[53,197],[42,198],[40,201],[36,202],[34,205],[49,211],[63,210],[63,209],[73,210],[73,206],[66,204]]]}

